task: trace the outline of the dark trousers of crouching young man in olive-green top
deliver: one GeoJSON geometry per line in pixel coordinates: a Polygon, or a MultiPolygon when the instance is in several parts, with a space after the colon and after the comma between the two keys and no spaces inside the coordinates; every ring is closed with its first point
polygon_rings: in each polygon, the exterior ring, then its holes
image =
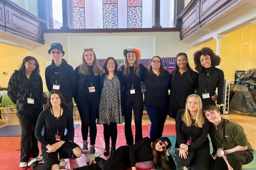
{"type": "MultiPolygon", "coordinates": [[[[236,151],[227,155],[227,160],[234,170],[242,170],[242,165],[253,160],[253,154],[247,151],[236,151]]],[[[228,166],[223,158],[216,158],[212,170],[227,170],[228,166]]]]}

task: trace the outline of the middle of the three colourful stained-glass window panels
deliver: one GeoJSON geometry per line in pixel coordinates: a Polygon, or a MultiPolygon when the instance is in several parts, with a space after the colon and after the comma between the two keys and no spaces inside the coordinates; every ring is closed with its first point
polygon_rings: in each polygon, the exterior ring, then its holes
{"type": "Polygon", "coordinates": [[[103,28],[118,28],[117,0],[103,0],[103,28]]]}

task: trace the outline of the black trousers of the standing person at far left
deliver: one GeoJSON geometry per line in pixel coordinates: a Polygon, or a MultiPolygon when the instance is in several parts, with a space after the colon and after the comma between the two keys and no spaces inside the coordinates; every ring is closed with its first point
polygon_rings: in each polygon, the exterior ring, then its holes
{"type": "Polygon", "coordinates": [[[38,117],[19,117],[21,127],[20,162],[28,162],[39,154],[38,142],[35,137],[35,127],[38,117]]]}

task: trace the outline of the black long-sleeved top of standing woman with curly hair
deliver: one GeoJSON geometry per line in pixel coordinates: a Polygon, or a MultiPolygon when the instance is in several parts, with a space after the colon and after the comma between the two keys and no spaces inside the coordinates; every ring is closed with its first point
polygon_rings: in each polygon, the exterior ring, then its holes
{"type": "Polygon", "coordinates": [[[201,97],[203,106],[207,106],[209,104],[215,105],[211,96],[214,96],[215,90],[218,88],[217,104],[222,104],[224,97],[224,73],[222,70],[215,67],[207,68],[207,71],[204,68],[202,73],[198,76],[199,87],[196,94],[201,97]],[[209,75],[207,75],[207,71],[209,75]],[[210,98],[202,98],[202,93],[205,93],[205,88],[206,92],[210,93],[210,98]]]}

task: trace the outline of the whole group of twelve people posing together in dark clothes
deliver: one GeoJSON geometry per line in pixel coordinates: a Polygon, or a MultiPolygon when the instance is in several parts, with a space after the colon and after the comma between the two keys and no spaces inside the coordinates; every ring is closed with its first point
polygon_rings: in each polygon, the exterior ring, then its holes
{"type": "Polygon", "coordinates": [[[253,150],[242,127],[220,117],[218,107],[224,94],[224,73],[216,68],[220,57],[212,49],[204,47],[194,53],[198,72],[190,67],[186,53],[178,53],[175,70],[171,73],[159,56],[150,59],[149,68],[145,68],[139,63],[140,50],[132,47],[124,49],[124,64],[119,69],[116,60],[108,57],[102,70],[92,48],[84,49],[82,64],[75,70],[62,59],[65,52],[60,43],[53,43],[48,53],[52,64],[45,70],[50,92],[47,101],[44,100],[39,64],[34,57],[25,57],[8,83],[8,96],[17,105],[22,128],[20,167],[58,170],[65,165],[64,158],[78,158],[82,153],[89,153],[86,161],[97,163],[76,170],[124,170],[130,167],[135,170],[136,162],[147,160],[153,160],[165,170],[175,169],[169,153],[172,143],[162,137],[167,114],[176,120],[175,161],[178,165],[191,166],[192,170],[210,168],[208,133],[218,156],[214,157],[214,170],[220,164],[219,169],[240,170],[242,164],[252,161],[253,150]],[[145,89],[141,89],[141,82],[145,89]],[[82,149],[74,143],[72,98],[82,123],[82,149]],[[142,138],[144,104],[151,121],[150,138],[142,138]],[[116,149],[117,124],[123,122],[127,146],[116,149]],[[95,153],[96,124],[104,125],[104,155],[111,154],[108,160],[95,153]],[[64,133],[65,128],[67,133],[64,133]],[[42,157],[38,156],[37,141],[41,143],[42,157]],[[42,159],[44,164],[38,164],[42,159]]]}

